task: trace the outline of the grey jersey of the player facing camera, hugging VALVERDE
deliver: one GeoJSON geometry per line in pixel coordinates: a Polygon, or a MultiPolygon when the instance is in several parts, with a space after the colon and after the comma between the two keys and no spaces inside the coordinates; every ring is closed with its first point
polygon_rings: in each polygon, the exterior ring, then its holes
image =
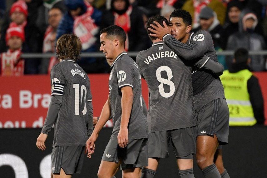
{"type": "MultiPolygon", "coordinates": [[[[193,61],[196,58],[207,55],[213,61],[218,62],[212,37],[206,31],[191,33],[187,43],[181,43],[170,34],[163,37],[163,41],[178,56],[185,60],[193,61]]],[[[220,77],[205,69],[193,69],[192,84],[195,110],[200,110],[205,104],[217,98],[225,98],[224,89],[220,77]]]]}

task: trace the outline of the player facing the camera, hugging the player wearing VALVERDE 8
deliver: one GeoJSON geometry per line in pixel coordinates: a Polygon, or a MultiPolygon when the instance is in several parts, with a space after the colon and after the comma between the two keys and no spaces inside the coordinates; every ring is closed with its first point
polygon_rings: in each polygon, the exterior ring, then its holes
{"type": "MultiPolygon", "coordinates": [[[[155,30],[150,28],[154,33],[150,35],[163,39],[167,46],[185,60],[193,61],[205,54],[217,61],[210,34],[206,31],[191,33],[191,23],[189,12],[177,10],[171,13],[169,27],[165,22],[163,26],[157,22],[156,25],[151,24],[155,30]]],[[[222,83],[218,76],[199,69],[192,74],[192,84],[197,116],[197,164],[206,178],[229,177],[222,164],[221,149],[216,151],[219,144],[228,143],[229,133],[229,109],[222,83]]]]}

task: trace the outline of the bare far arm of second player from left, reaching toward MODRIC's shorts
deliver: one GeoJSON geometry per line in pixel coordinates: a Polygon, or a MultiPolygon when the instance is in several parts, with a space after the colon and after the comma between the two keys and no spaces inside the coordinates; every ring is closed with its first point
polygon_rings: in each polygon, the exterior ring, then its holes
{"type": "Polygon", "coordinates": [[[94,143],[98,137],[99,132],[104,127],[106,122],[109,120],[111,116],[111,109],[110,109],[110,96],[108,96],[108,99],[106,103],[104,104],[99,120],[95,126],[95,129],[93,130],[91,136],[88,138],[86,142],[86,148],[88,150],[87,157],[91,158],[91,154],[94,152],[94,143]]]}

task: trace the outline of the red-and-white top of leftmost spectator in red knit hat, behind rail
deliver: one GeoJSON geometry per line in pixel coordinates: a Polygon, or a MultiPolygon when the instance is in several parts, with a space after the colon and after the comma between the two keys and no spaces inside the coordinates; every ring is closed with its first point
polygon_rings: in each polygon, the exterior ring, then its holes
{"type": "Polygon", "coordinates": [[[1,54],[1,75],[22,76],[24,74],[24,60],[21,59],[21,49],[1,54]]]}

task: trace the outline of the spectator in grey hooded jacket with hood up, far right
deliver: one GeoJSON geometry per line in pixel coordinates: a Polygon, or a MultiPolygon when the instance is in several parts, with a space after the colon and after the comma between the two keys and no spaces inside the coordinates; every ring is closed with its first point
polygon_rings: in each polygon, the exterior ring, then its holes
{"type": "MultiPolygon", "coordinates": [[[[236,50],[244,47],[251,51],[260,51],[266,49],[264,38],[254,32],[258,23],[256,15],[249,9],[244,9],[240,14],[239,32],[231,35],[227,42],[227,50],[236,50]]],[[[232,60],[231,56],[226,57],[226,65],[229,67],[232,60]]],[[[265,70],[265,57],[262,55],[252,55],[250,68],[253,71],[265,70]]]]}

